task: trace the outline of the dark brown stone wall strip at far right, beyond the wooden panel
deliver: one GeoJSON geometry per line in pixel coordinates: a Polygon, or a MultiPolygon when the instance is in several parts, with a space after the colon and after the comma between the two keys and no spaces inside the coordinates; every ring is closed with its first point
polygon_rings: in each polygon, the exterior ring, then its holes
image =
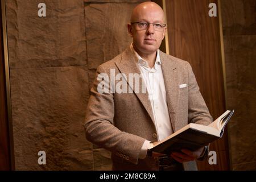
{"type": "Polygon", "coordinates": [[[221,1],[227,109],[234,170],[256,169],[256,1],[221,1]]]}

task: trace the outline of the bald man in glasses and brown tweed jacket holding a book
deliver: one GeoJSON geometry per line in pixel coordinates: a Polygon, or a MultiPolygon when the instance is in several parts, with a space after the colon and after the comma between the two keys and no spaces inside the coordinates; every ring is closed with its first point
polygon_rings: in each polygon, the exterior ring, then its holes
{"type": "Polygon", "coordinates": [[[188,123],[212,117],[191,65],[159,50],[166,34],[160,6],[139,4],[127,24],[133,43],[101,64],[86,109],[86,138],[112,152],[113,170],[196,170],[207,146],[171,154],[148,148],[188,123]]]}

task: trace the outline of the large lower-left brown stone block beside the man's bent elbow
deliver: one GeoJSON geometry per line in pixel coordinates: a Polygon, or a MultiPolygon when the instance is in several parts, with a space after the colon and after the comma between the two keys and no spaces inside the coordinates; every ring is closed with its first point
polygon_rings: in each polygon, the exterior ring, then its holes
{"type": "Polygon", "coordinates": [[[10,75],[16,169],[93,169],[83,127],[86,69],[12,69],[10,75]],[[45,166],[38,165],[40,150],[46,151],[45,166]]]}

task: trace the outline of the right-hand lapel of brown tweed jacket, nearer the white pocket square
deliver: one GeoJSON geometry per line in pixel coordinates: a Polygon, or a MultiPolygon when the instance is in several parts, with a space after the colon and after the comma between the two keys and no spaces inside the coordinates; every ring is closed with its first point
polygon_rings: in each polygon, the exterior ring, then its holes
{"type": "Polygon", "coordinates": [[[164,84],[166,86],[167,105],[172,123],[172,129],[176,131],[176,113],[177,98],[179,94],[177,84],[177,67],[176,60],[168,58],[162,51],[160,52],[160,60],[162,61],[162,71],[164,84]]]}

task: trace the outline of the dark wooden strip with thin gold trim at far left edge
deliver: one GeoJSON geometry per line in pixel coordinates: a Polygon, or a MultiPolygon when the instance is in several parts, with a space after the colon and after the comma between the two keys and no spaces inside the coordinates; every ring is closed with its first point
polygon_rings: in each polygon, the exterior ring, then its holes
{"type": "Polygon", "coordinates": [[[0,170],[15,169],[5,0],[1,0],[0,45],[0,170]]]}

